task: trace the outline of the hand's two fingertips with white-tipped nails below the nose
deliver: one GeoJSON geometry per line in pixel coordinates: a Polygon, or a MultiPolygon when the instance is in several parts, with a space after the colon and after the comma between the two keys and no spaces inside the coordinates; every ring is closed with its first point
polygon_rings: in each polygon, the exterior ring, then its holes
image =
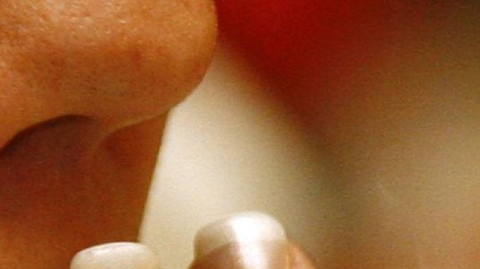
{"type": "MultiPolygon", "coordinates": [[[[158,269],[147,246],[112,243],[77,253],[71,269],[158,269]]],[[[195,238],[195,261],[189,269],[315,269],[289,242],[283,227],[259,213],[236,214],[202,229],[195,238]]]]}

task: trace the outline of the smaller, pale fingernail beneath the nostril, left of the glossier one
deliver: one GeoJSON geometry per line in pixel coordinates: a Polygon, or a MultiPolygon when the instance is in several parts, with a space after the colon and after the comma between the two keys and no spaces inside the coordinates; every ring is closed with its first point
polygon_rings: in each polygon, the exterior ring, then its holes
{"type": "Polygon", "coordinates": [[[102,244],[86,248],[71,261],[71,269],[158,269],[156,255],[133,242],[102,244]]]}

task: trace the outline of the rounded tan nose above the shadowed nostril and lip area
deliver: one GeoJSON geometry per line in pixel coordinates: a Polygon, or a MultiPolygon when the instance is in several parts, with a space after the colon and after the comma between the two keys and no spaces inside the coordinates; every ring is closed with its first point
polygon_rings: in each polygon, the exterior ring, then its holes
{"type": "Polygon", "coordinates": [[[210,1],[2,1],[0,146],[83,116],[113,130],[182,100],[215,42],[210,1]]]}

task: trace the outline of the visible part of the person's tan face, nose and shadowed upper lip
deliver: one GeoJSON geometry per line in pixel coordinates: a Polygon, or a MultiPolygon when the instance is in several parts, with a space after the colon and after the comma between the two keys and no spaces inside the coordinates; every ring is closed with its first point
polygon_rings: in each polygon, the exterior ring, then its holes
{"type": "Polygon", "coordinates": [[[136,239],[165,115],[215,27],[208,0],[0,1],[0,268],[136,239]]]}

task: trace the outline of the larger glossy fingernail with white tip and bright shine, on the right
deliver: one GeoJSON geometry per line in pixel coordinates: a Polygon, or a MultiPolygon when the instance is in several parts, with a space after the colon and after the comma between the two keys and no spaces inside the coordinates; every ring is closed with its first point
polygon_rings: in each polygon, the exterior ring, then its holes
{"type": "Polygon", "coordinates": [[[201,229],[195,237],[193,268],[287,268],[287,236],[266,214],[235,214],[201,229]]]}

